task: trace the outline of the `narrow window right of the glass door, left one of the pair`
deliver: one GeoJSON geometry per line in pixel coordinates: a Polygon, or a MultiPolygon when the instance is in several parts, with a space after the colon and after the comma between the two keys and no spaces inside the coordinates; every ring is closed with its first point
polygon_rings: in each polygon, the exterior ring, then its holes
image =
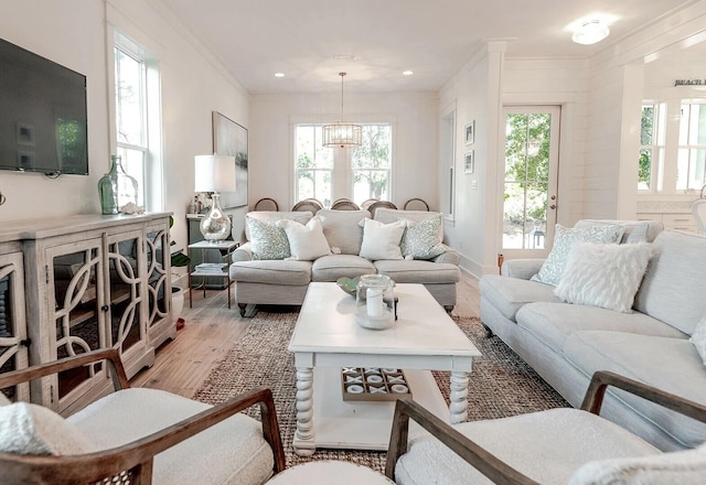
{"type": "Polygon", "coordinates": [[[653,191],[653,182],[659,182],[656,172],[662,166],[664,157],[665,111],[663,103],[645,103],[642,105],[640,161],[638,168],[639,191],[653,191]]]}

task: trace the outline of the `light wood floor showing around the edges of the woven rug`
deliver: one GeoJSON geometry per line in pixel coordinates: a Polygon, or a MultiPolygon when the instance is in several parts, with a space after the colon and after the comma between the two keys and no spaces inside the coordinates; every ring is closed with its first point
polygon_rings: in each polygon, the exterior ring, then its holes
{"type": "MultiPolygon", "coordinates": [[[[457,285],[458,302],[453,314],[480,316],[478,280],[462,274],[457,285]]],[[[205,299],[202,291],[194,290],[192,295],[193,308],[189,308],[189,295],[184,302],[184,328],[178,332],[174,341],[157,351],[154,365],[131,380],[133,387],[151,387],[192,397],[247,328],[248,319],[240,317],[237,305],[233,303],[228,310],[225,290],[208,290],[205,299]]]]}

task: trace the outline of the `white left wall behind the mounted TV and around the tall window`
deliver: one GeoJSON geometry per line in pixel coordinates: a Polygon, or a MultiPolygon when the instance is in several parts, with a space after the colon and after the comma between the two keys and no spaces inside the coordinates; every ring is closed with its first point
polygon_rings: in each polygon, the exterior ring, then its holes
{"type": "MultiPolygon", "coordinates": [[[[211,112],[248,126],[247,94],[173,20],[147,0],[23,0],[3,2],[2,37],[87,76],[89,176],[0,172],[0,222],[98,213],[98,179],[115,147],[108,111],[111,29],[160,58],[164,159],[163,209],[174,213],[172,237],[186,242],[185,212],[193,196],[193,157],[213,152],[211,112]],[[31,22],[28,23],[28,19],[31,22]],[[31,28],[30,28],[31,25],[31,28]],[[41,32],[41,35],[38,34],[41,32]]],[[[240,209],[243,212],[243,209],[240,209]]]]}

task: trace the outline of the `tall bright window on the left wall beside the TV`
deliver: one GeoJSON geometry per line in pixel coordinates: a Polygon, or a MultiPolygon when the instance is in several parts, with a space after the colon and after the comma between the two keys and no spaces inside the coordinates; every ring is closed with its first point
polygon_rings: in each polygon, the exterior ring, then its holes
{"type": "Polygon", "coordinates": [[[117,154],[138,182],[138,205],[162,208],[158,64],[145,48],[116,33],[115,114],[117,154]]]}

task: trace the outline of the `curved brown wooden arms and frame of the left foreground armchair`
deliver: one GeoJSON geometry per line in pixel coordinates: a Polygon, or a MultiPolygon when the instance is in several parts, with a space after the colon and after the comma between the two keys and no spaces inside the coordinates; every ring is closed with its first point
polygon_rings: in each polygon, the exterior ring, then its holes
{"type": "MultiPolygon", "coordinates": [[[[120,354],[117,349],[109,348],[2,374],[0,389],[100,360],[107,364],[115,390],[130,387],[120,354]]],[[[0,453],[0,483],[53,485],[95,483],[105,477],[129,473],[131,484],[150,484],[154,455],[255,405],[259,405],[260,408],[263,435],[272,449],[275,459],[272,472],[277,474],[285,470],[285,451],[272,392],[270,389],[260,387],[111,450],[63,456],[0,453]]]]}

